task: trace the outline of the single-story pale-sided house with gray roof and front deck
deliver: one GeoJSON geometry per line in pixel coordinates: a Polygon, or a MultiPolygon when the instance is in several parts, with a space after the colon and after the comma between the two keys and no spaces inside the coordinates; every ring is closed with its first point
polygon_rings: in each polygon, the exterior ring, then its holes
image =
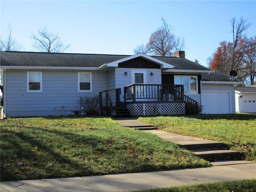
{"type": "Polygon", "coordinates": [[[185,114],[191,105],[204,114],[236,112],[239,82],[185,59],[182,51],[174,55],[1,52],[4,113],[74,114],[81,96],[100,92],[111,98],[112,110],[125,106],[132,115],[185,114]]]}

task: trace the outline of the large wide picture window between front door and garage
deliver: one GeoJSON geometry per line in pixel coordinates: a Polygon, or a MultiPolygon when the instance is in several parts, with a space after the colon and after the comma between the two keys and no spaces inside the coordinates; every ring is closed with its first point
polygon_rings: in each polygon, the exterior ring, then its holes
{"type": "Polygon", "coordinates": [[[197,94],[197,76],[174,76],[176,85],[184,85],[184,93],[197,94]]]}

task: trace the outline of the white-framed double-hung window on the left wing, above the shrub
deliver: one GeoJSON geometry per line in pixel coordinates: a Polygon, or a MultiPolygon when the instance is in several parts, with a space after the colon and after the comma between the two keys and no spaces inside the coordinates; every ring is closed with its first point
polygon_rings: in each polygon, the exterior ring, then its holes
{"type": "Polygon", "coordinates": [[[92,73],[78,72],[78,91],[92,91],[92,73]]]}

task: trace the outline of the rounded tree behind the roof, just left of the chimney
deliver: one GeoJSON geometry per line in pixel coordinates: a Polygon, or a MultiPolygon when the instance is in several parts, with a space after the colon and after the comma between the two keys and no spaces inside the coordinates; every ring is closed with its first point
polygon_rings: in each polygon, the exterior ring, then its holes
{"type": "Polygon", "coordinates": [[[172,56],[173,52],[183,50],[185,47],[184,39],[180,40],[172,33],[171,26],[164,18],[162,27],[158,28],[150,35],[148,43],[136,46],[134,53],[145,53],[154,56],[172,56]]]}

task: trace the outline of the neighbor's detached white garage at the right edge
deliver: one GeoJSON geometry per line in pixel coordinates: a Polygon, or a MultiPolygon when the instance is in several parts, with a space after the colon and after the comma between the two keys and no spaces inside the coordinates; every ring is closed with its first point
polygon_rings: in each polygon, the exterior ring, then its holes
{"type": "Polygon", "coordinates": [[[236,112],[256,113],[256,85],[235,89],[236,112]]]}

